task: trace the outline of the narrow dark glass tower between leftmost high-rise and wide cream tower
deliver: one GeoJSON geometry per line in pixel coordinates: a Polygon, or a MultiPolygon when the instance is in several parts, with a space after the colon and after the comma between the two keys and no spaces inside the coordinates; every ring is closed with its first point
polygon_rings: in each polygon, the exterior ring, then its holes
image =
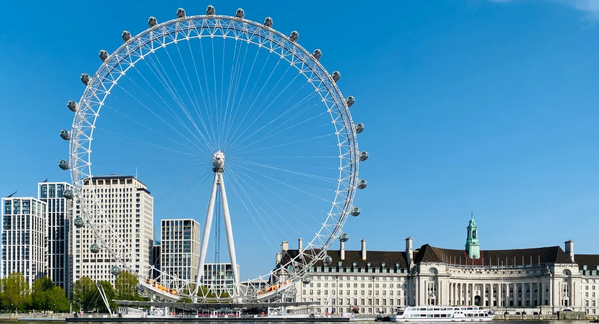
{"type": "Polygon", "coordinates": [[[70,296],[72,270],[69,269],[69,221],[72,222],[72,199],[63,197],[73,187],[67,182],[38,183],[38,198],[46,202],[47,276],[70,296]]]}

